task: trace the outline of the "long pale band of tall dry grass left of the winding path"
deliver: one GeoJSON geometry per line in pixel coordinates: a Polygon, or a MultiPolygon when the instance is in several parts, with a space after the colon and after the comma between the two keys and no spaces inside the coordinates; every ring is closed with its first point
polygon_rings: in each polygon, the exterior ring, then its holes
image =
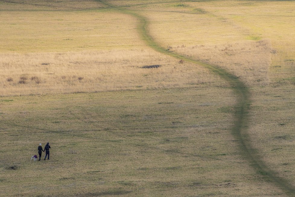
{"type": "Polygon", "coordinates": [[[191,87],[201,83],[218,86],[224,83],[201,66],[179,64],[178,61],[152,50],[0,53],[0,95],[191,87]]]}

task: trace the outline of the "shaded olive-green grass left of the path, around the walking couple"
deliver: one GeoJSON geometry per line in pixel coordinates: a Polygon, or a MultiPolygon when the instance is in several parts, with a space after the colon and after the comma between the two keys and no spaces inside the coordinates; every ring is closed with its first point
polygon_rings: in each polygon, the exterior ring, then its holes
{"type": "Polygon", "coordinates": [[[1,104],[6,194],[284,196],[236,149],[231,89],[5,97],[1,104]],[[51,159],[30,162],[47,141],[51,159]]]}

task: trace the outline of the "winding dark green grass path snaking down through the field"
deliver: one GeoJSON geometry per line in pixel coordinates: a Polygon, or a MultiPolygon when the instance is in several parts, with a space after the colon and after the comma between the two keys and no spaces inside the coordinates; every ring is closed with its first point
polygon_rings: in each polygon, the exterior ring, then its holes
{"type": "MultiPolygon", "coordinates": [[[[160,47],[155,40],[148,33],[148,20],[135,12],[130,10],[119,8],[118,6],[110,5],[107,2],[99,1],[106,5],[108,8],[114,8],[118,11],[121,11],[128,15],[133,15],[139,19],[138,31],[141,34],[141,38],[146,42],[146,44],[153,48],[154,50],[175,57],[176,59],[182,59],[187,62],[195,63],[205,68],[209,69],[211,72],[220,76],[222,79],[229,82],[230,86],[233,88],[233,91],[236,95],[236,106],[234,111],[235,124],[231,128],[231,134],[236,138],[238,146],[241,150],[241,153],[248,159],[249,165],[251,165],[257,173],[264,176],[266,182],[272,182],[279,188],[281,188],[287,195],[294,196],[295,188],[283,177],[277,175],[277,173],[271,170],[258,156],[256,151],[252,148],[250,144],[249,137],[247,135],[247,124],[248,124],[248,112],[249,106],[251,104],[249,90],[246,85],[234,76],[231,73],[228,73],[226,70],[221,69],[220,67],[204,63],[198,60],[193,60],[189,57],[169,52],[164,48],[160,47]]],[[[182,1],[183,2],[183,1],[182,1]]]]}

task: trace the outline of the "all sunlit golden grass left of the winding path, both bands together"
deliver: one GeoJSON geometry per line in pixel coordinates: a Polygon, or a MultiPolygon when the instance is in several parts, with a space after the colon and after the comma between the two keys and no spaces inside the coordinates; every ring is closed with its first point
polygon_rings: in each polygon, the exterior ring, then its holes
{"type": "Polygon", "coordinates": [[[189,87],[217,81],[199,66],[179,64],[145,49],[137,20],[126,14],[92,10],[0,15],[2,96],[189,87]],[[149,65],[161,67],[140,68],[149,65]]]}

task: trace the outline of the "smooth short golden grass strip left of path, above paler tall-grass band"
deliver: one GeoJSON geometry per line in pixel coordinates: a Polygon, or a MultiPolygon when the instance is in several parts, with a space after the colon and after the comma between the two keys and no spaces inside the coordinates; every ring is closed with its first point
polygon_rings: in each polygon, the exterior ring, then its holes
{"type": "Polygon", "coordinates": [[[143,48],[137,20],[107,10],[1,11],[0,52],[143,48]]]}

